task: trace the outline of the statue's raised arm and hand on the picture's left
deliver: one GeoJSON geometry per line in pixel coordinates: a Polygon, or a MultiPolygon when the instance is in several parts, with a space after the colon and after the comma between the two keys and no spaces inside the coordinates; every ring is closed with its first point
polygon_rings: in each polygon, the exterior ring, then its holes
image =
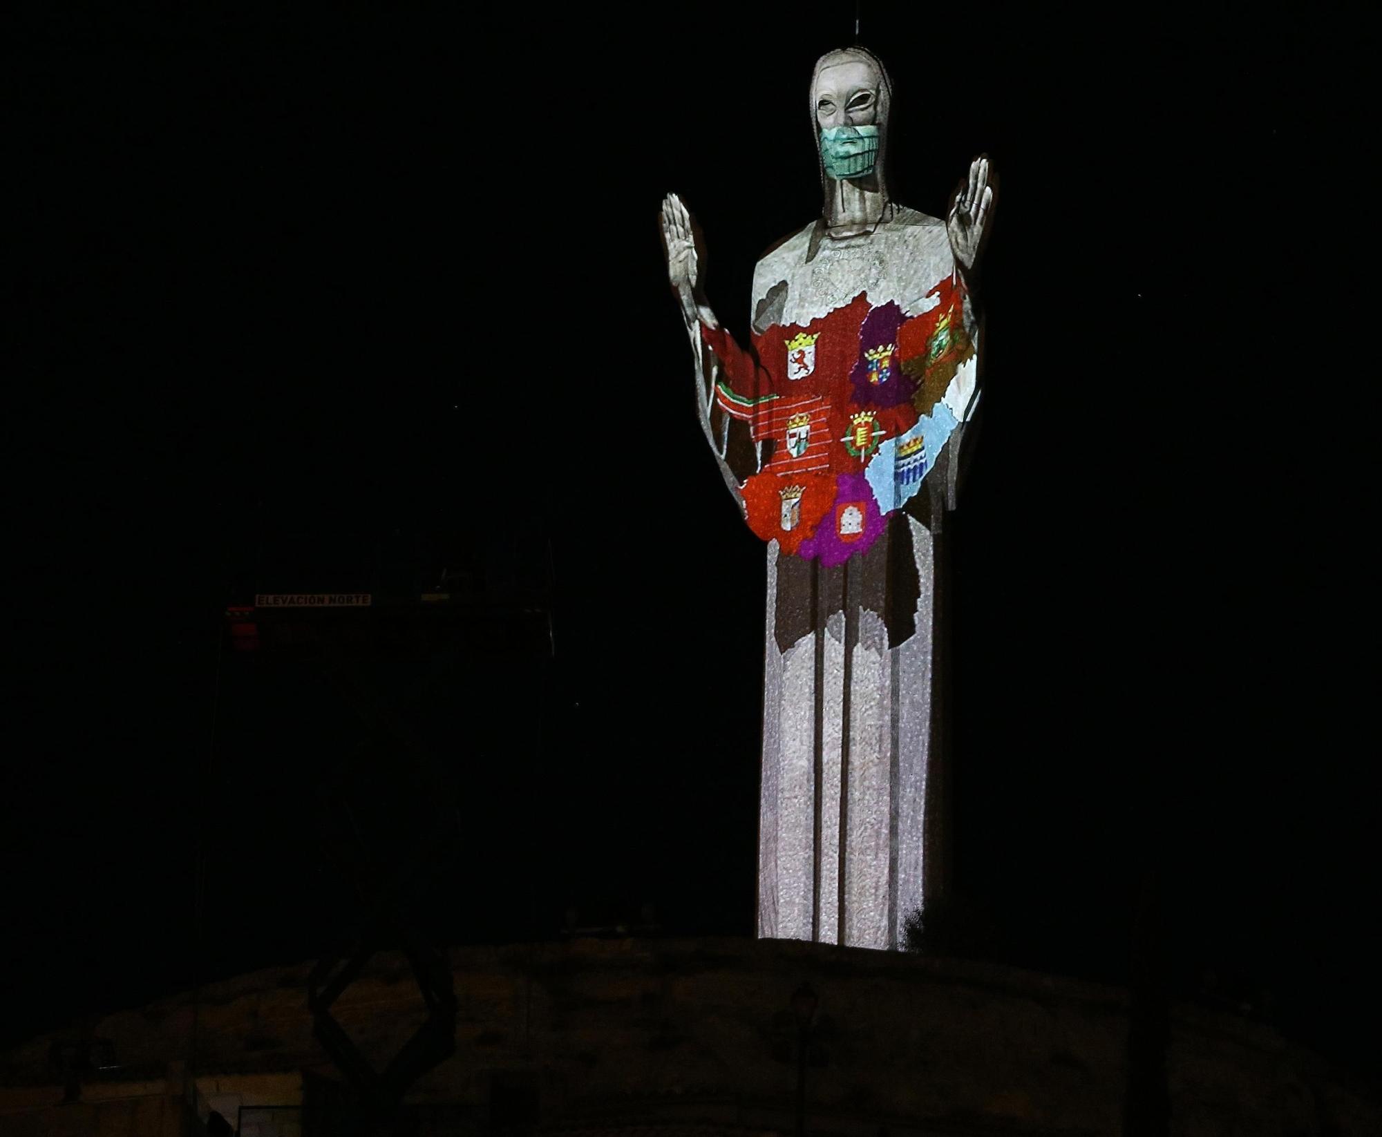
{"type": "MultiPolygon", "coordinates": [[[[752,376],[756,365],[752,356],[734,343],[728,332],[720,327],[705,300],[701,287],[705,246],[699,227],[676,193],[669,193],[662,202],[662,246],[668,258],[668,280],[681,308],[681,319],[695,359],[697,413],[701,430],[714,452],[726,486],[742,510],[739,486],[755,471],[757,463],[746,460],[746,455],[755,455],[752,448],[734,445],[745,441],[734,437],[734,431],[742,431],[744,424],[735,423],[734,417],[726,413],[724,391],[730,388],[728,380],[745,370],[752,376]]],[[[752,399],[756,392],[749,384],[749,390],[741,390],[739,394],[752,399]]]]}

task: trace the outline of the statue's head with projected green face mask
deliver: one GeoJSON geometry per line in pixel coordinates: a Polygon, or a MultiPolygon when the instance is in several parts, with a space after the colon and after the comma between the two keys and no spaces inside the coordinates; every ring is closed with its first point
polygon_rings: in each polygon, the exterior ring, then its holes
{"type": "Polygon", "coordinates": [[[890,102],[887,70],[873,52],[844,47],[815,61],[811,116],[826,180],[882,191],[890,102]]]}

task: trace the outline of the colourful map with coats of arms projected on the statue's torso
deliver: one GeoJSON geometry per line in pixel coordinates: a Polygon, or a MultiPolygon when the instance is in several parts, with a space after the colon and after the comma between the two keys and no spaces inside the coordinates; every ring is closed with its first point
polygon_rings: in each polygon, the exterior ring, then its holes
{"type": "Polygon", "coordinates": [[[749,528],[763,540],[837,564],[865,553],[882,522],[920,490],[927,449],[940,453],[963,421],[973,383],[962,369],[974,345],[965,332],[965,289],[954,276],[916,307],[916,315],[893,300],[872,307],[860,293],[804,327],[756,332],[752,351],[698,322],[724,365],[716,403],[748,424],[764,455],[741,486],[749,528]],[[778,508],[788,490],[800,503],[804,474],[824,478],[829,488],[818,495],[829,493],[840,508],[806,517],[778,508]],[[876,524],[864,525],[865,517],[876,524]],[[833,535],[815,539],[821,524],[833,525],[833,535]]]}

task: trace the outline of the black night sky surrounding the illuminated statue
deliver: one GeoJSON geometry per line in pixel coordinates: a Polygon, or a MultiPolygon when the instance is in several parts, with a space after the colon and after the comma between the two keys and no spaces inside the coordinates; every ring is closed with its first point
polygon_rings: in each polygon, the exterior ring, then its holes
{"type": "MultiPolygon", "coordinates": [[[[464,818],[448,935],[645,901],[749,933],[761,547],[695,424],[656,210],[697,213],[742,336],[753,261],[818,207],[806,84],[849,8],[35,6],[6,37],[7,1038],[189,985],[203,832],[203,970],[350,924],[289,833],[352,729],[326,696],[224,666],[202,782],[221,608],[287,533],[500,562],[550,535],[550,696],[503,711],[546,707],[542,753],[473,727],[482,638],[412,687],[464,818]]],[[[1155,863],[1184,989],[1270,989],[1375,1067],[1360,80],[1332,54],[1361,17],[864,8],[897,196],[940,213],[980,151],[1002,177],[952,531],[959,887],[1003,957],[1118,980],[1155,863]]]]}

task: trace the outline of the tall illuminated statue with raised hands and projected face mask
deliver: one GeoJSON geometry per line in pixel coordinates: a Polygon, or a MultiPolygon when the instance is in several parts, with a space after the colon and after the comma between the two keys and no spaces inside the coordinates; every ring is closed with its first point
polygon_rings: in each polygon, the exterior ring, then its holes
{"type": "Polygon", "coordinates": [[[768,543],[757,933],[869,948],[943,881],[937,535],[978,403],[994,199],[984,157],[945,221],[891,199],[890,94],[862,48],[817,62],[825,209],[759,261],[749,350],[705,301],[685,207],[662,206],[701,426],[768,543]]]}

